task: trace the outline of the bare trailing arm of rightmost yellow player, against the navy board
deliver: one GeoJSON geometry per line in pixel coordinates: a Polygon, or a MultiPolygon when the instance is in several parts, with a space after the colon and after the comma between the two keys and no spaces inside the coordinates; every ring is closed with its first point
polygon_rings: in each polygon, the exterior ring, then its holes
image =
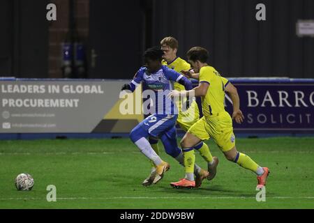
{"type": "Polygon", "coordinates": [[[238,91],[233,84],[229,83],[227,86],[225,86],[225,92],[227,92],[227,95],[232,100],[233,104],[233,113],[232,113],[232,119],[234,119],[237,123],[241,124],[244,120],[244,115],[242,114],[240,110],[240,98],[238,91]]]}

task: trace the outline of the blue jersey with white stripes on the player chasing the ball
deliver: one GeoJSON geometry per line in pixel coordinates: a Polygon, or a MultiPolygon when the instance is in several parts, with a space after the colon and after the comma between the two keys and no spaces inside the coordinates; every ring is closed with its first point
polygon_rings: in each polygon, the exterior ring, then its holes
{"type": "MultiPolygon", "coordinates": [[[[131,90],[134,91],[135,87],[142,82],[144,89],[151,90],[148,94],[152,97],[156,114],[178,114],[177,106],[174,105],[171,99],[167,98],[167,94],[174,89],[173,82],[179,82],[181,79],[186,82],[186,77],[166,66],[162,66],[160,70],[154,73],[150,73],[146,67],[142,67],[137,71],[130,85],[131,90]]],[[[146,98],[146,96],[146,93],[144,93],[143,98],[146,98]]]]}

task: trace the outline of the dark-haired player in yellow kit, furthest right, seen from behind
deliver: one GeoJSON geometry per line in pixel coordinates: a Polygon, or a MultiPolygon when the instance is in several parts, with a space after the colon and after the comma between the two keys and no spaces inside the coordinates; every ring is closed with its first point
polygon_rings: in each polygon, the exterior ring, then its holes
{"type": "MultiPolygon", "coordinates": [[[[202,98],[202,112],[204,116],[186,132],[181,140],[181,148],[184,151],[184,164],[186,178],[178,182],[171,183],[173,187],[193,187],[193,164],[195,155],[193,146],[202,140],[213,138],[217,146],[223,151],[227,160],[239,164],[240,167],[249,169],[257,174],[257,187],[266,184],[269,169],[260,167],[251,157],[237,151],[235,146],[235,137],[232,128],[232,119],[237,123],[243,122],[243,114],[240,110],[239,95],[237,89],[221,77],[215,68],[208,66],[208,52],[202,47],[193,47],[187,52],[189,63],[193,66],[195,74],[185,72],[186,75],[200,80],[199,86],[190,91],[172,91],[169,97],[178,97],[179,95],[195,95],[202,98]],[[199,74],[197,74],[199,73],[199,74]],[[230,95],[233,102],[232,118],[225,112],[224,98],[225,92],[230,95]]],[[[213,169],[209,167],[209,174],[213,169]]],[[[216,169],[214,169],[216,174],[216,169]]]]}

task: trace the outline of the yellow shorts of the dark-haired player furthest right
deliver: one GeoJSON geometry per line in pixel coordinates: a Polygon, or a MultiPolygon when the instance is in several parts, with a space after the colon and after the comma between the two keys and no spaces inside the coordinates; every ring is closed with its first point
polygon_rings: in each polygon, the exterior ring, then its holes
{"type": "Polygon", "coordinates": [[[223,152],[230,151],[235,146],[232,119],[227,112],[211,117],[203,116],[188,132],[201,140],[213,138],[223,152]]]}

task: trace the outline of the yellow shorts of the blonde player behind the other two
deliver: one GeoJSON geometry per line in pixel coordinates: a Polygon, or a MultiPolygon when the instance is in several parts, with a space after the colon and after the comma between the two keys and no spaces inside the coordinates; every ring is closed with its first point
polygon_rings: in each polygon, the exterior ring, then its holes
{"type": "Polygon", "coordinates": [[[186,111],[179,112],[177,123],[180,125],[181,129],[187,132],[188,129],[199,120],[200,111],[198,110],[197,102],[193,100],[190,107],[186,111]]]}

